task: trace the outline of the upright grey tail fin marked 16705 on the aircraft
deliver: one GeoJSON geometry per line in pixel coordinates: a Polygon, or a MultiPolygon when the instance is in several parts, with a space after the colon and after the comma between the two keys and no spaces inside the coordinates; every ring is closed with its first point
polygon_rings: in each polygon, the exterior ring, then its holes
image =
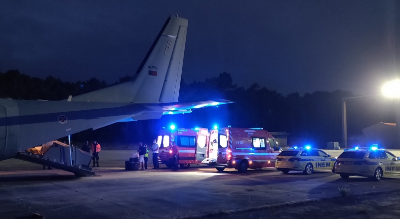
{"type": "Polygon", "coordinates": [[[130,82],[69,99],[88,102],[177,102],[188,20],[169,16],[130,82]]]}

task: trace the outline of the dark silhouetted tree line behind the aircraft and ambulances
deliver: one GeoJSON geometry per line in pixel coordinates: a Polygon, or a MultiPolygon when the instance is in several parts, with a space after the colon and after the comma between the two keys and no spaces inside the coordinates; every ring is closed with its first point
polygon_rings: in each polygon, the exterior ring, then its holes
{"type": "MultiPolygon", "coordinates": [[[[18,70],[0,72],[0,98],[62,100],[96,89],[106,88],[131,80],[125,76],[108,84],[91,78],[87,81],[63,82],[48,76],[45,79],[21,74],[18,70]]],[[[227,99],[232,104],[196,109],[192,113],[164,115],[160,120],[116,123],[98,130],[87,130],[72,135],[75,141],[98,140],[99,142],[135,143],[149,142],[162,128],[174,123],[177,127],[264,128],[267,131],[289,132],[290,139],[326,147],[326,142],[341,142],[342,98],[351,97],[349,91],[315,91],[300,95],[298,92],[282,95],[276,90],[252,84],[249,88],[234,84],[229,73],[207,78],[204,82],[187,84],[181,80],[179,101],[227,99]]],[[[393,112],[379,108],[385,104],[379,100],[350,104],[348,108],[349,132],[361,130],[376,122],[388,122],[393,112]],[[362,110],[361,110],[362,109],[362,110]]],[[[297,142],[297,141],[296,141],[297,142]]]]}

